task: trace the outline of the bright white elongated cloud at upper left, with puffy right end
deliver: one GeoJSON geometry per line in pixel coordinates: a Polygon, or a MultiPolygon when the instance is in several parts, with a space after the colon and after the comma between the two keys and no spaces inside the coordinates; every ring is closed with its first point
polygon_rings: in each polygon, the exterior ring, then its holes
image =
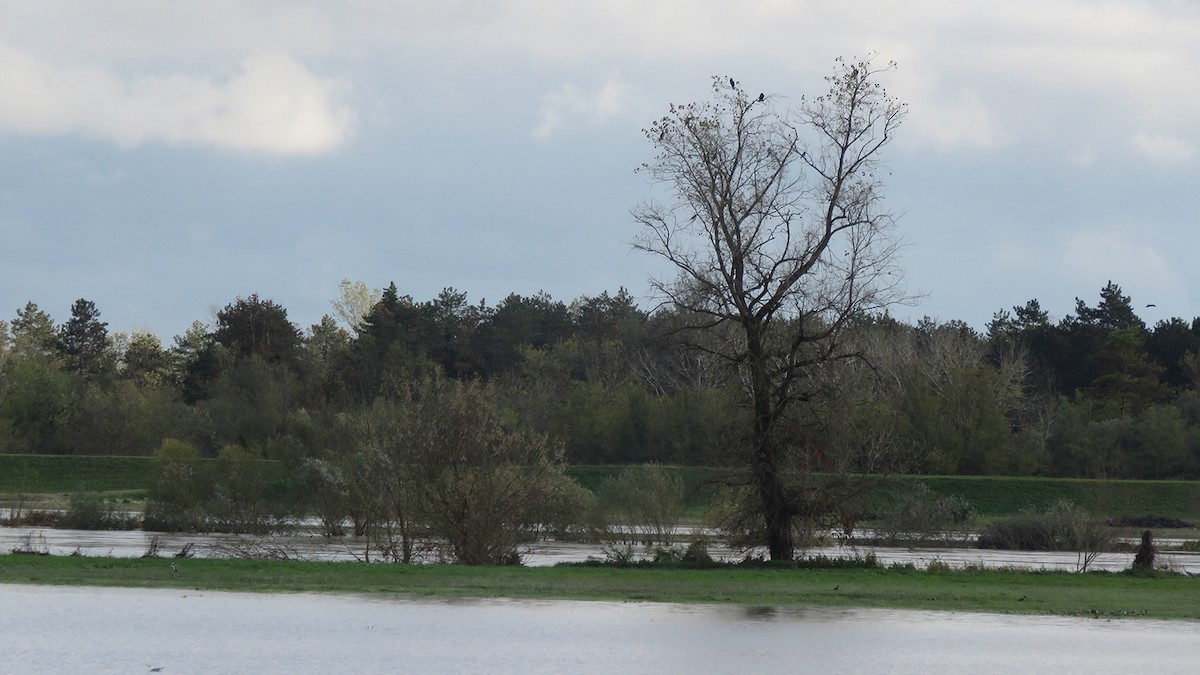
{"type": "Polygon", "coordinates": [[[0,46],[0,132],[319,154],[349,137],[354,113],[337,101],[341,90],[336,80],[278,54],[245,59],[218,80],[185,73],[122,77],[0,46]]]}

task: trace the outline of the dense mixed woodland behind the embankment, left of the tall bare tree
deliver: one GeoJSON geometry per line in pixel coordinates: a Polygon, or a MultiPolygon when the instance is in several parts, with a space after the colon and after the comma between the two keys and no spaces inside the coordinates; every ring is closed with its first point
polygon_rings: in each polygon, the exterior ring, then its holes
{"type": "Polygon", "coordinates": [[[702,364],[648,338],[668,321],[624,291],[488,306],[390,286],[355,325],[326,316],[307,330],[271,300],[238,298],[168,347],[109,333],[89,300],[61,324],[29,303],[0,321],[0,452],[138,455],[176,438],[206,456],[302,459],[324,450],[332,420],[438,375],[487,382],[575,462],[716,461],[730,401],[702,364]]]}

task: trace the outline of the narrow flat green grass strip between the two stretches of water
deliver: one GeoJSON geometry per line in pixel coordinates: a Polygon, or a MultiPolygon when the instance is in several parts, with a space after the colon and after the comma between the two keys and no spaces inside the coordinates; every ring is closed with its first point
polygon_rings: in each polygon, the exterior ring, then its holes
{"type": "Polygon", "coordinates": [[[0,555],[0,583],[1200,620],[1200,580],[912,569],[463,567],[0,555]],[[1024,599],[1022,599],[1024,598],[1024,599]]]}

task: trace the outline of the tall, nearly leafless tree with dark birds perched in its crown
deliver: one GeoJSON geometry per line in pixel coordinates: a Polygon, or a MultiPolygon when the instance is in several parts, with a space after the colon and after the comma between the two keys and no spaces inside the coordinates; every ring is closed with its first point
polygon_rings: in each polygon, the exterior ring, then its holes
{"type": "Polygon", "coordinates": [[[787,476],[804,438],[784,437],[796,426],[781,423],[818,395],[814,369],[854,356],[840,339],[847,323],[904,299],[876,174],[906,112],[876,83],[890,67],[839,59],[828,92],[785,113],[714,77],[712,101],[673,104],[644,130],[658,156],[642,169],[673,203],[632,210],[643,227],[635,247],[676,268],[655,289],[701,318],[691,328],[708,339],[692,345],[742,378],[773,560],[793,557],[793,518],[808,508],[787,476]]]}

